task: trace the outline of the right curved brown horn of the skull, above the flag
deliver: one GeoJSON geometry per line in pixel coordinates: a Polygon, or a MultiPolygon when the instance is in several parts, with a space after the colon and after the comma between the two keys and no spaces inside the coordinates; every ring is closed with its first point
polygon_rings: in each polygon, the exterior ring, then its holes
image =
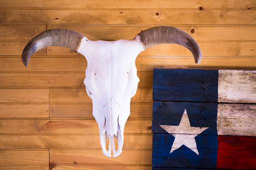
{"type": "Polygon", "coordinates": [[[187,32],[170,26],[152,27],[137,34],[144,49],[158,44],[178,44],[189,49],[196,63],[200,63],[202,53],[196,40],[187,32]]]}

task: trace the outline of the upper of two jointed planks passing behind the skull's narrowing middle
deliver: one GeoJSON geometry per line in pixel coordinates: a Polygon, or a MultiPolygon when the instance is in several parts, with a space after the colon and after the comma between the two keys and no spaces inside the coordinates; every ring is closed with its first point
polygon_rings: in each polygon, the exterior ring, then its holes
{"type": "MultiPolygon", "coordinates": [[[[50,104],[86,104],[92,103],[92,99],[87,95],[86,88],[51,88],[50,104]]],[[[152,89],[138,88],[131,103],[152,103],[152,89]]]]}

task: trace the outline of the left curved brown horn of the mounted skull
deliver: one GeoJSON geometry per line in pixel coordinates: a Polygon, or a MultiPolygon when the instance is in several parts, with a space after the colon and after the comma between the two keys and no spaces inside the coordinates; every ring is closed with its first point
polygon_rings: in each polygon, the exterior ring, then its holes
{"type": "Polygon", "coordinates": [[[83,37],[81,33],[68,29],[46,30],[28,42],[22,52],[22,62],[27,67],[30,57],[44,47],[61,46],[77,51],[83,37]]]}

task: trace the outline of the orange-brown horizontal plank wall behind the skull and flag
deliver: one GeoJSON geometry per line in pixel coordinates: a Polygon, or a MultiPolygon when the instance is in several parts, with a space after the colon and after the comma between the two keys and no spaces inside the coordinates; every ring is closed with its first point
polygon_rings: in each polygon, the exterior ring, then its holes
{"type": "Polygon", "coordinates": [[[256,2],[251,0],[0,1],[0,169],[151,169],[154,67],[256,69],[256,2]],[[86,59],[48,47],[28,68],[22,50],[35,35],[72,29],[90,40],[131,39],[141,30],[175,26],[199,43],[203,58],[159,45],[142,52],[140,78],[125,127],[123,152],[102,153],[86,59]]]}

